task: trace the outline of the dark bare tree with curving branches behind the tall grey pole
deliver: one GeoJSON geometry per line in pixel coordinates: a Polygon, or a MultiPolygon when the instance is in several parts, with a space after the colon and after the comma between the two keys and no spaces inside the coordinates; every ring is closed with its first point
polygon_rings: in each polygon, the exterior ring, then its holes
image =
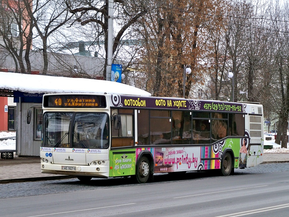
{"type": "MultiPolygon", "coordinates": [[[[107,65],[107,47],[108,47],[108,0],[106,1],[65,1],[70,13],[75,14],[76,20],[81,25],[95,25],[97,32],[96,42],[104,40],[105,47],[105,67],[103,77],[106,78],[107,65]]],[[[114,1],[114,14],[122,19],[114,19],[119,25],[118,31],[114,37],[113,51],[114,54],[120,44],[123,34],[129,29],[137,19],[147,13],[147,6],[143,1],[114,1]]],[[[97,43],[96,43],[97,44],[97,43]]]]}

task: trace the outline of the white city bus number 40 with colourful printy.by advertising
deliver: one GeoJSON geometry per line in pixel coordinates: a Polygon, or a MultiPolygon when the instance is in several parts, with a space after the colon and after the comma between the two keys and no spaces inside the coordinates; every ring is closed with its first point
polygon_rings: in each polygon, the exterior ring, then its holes
{"type": "Polygon", "coordinates": [[[263,107],[118,94],[45,94],[41,172],[95,177],[218,170],[262,163],[263,107]]]}

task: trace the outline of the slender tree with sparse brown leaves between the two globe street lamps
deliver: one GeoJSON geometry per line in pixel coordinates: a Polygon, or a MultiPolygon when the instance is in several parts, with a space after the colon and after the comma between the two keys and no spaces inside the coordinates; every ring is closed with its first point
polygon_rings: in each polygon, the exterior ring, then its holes
{"type": "Polygon", "coordinates": [[[226,80],[228,70],[228,40],[226,40],[225,24],[227,22],[226,14],[230,10],[229,6],[225,2],[222,3],[223,7],[215,7],[215,10],[211,12],[211,19],[209,25],[203,34],[205,38],[204,44],[206,47],[203,52],[203,56],[200,56],[203,67],[202,73],[207,78],[204,84],[198,87],[199,97],[206,99],[226,99],[229,93],[231,85],[228,85],[226,80]],[[225,7],[224,7],[225,6],[225,7]],[[229,87],[228,87],[229,86],[229,87]],[[204,95],[204,96],[201,96],[204,95]]]}

